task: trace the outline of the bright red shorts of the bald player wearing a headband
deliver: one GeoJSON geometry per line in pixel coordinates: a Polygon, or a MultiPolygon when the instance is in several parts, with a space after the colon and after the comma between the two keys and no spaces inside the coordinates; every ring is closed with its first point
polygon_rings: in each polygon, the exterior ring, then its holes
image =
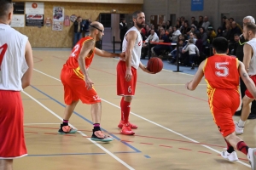
{"type": "Polygon", "coordinates": [[[97,95],[95,88],[87,90],[83,75],[77,74],[73,69],[67,68],[67,66],[64,66],[61,71],[65,104],[71,105],[73,101],[78,101],[79,99],[84,104],[96,104],[101,102],[101,98],[97,95]]]}

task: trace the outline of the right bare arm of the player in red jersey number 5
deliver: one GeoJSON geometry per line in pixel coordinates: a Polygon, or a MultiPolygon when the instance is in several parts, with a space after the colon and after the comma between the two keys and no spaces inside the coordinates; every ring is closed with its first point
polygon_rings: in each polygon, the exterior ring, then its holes
{"type": "Polygon", "coordinates": [[[247,89],[251,94],[253,94],[254,99],[256,99],[256,88],[253,80],[248,76],[247,71],[245,70],[245,66],[241,61],[239,61],[239,74],[242,81],[245,83],[247,89]]]}

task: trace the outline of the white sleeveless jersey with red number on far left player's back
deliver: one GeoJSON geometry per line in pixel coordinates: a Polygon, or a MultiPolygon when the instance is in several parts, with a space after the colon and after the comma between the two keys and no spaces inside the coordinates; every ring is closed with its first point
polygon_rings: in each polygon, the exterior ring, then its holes
{"type": "Polygon", "coordinates": [[[0,24],[0,90],[22,90],[21,78],[28,69],[27,39],[9,25],[0,24]]]}

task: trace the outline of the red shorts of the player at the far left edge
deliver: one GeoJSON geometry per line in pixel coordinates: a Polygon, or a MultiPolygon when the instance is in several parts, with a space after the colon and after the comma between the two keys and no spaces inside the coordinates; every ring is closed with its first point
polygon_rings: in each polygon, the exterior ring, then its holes
{"type": "Polygon", "coordinates": [[[20,92],[0,90],[0,159],[26,156],[20,92]]]}

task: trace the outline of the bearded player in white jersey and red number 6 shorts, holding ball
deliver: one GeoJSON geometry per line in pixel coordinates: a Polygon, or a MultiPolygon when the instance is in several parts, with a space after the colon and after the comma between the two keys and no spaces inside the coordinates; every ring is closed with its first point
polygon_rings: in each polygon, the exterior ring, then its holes
{"type": "Polygon", "coordinates": [[[136,11],[132,14],[134,26],[125,34],[122,51],[125,52],[125,59],[120,59],[117,65],[117,94],[123,96],[120,102],[121,121],[118,127],[121,133],[133,135],[131,129],[137,126],[129,122],[131,111],[131,99],[135,94],[137,83],[137,69],[140,67],[143,71],[152,73],[141,63],[141,51],[143,46],[143,37],[141,30],[145,26],[145,14],[142,11],[136,11]]]}

